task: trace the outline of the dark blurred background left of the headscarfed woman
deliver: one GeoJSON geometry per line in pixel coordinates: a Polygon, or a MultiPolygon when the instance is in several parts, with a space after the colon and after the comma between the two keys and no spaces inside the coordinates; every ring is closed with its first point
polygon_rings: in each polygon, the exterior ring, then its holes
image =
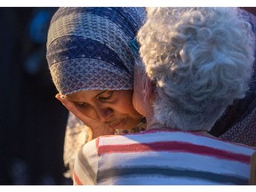
{"type": "Polygon", "coordinates": [[[47,61],[47,30],[57,8],[0,8],[0,184],[63,185],[68,110],[47,61]]]}

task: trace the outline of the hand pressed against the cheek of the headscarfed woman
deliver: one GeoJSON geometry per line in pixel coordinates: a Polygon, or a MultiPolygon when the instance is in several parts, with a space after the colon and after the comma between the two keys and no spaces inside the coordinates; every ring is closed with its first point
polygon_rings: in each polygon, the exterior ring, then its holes
{"type": "Polygon", "coordinates": [[[109,127],[107,124],[102,124],[99,121],[95,121],[88,116],[84,116],[82,112],[80,112],[73,102],[70,102],[66,98],[61,98],[60,93],[56,94],[55,98],[60,100],[60,102],[68,108],[68,110],[73,113],[78,119],[80,119],[84,124],[92,130],[92,139],[99,137],[100,135],[111,135],[115,134],[115,129],[109,127]]]}

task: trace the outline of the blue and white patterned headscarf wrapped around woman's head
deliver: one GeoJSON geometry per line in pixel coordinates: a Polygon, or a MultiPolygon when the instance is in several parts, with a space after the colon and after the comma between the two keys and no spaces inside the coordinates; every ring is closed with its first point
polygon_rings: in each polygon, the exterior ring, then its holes
{"type": "Polygon", "coordinates": [[[132,89],[132,39],[144,8],[60,8],[47,37],[47,61],[61,95],[84,90],[132,89]]]}

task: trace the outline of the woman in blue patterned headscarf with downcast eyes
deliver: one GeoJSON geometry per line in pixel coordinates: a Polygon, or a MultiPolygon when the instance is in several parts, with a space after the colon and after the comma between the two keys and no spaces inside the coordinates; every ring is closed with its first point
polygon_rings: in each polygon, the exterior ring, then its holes
{"type": "Polygon", "coordinates": [[[64,161],[71,170],[76,151],[88,140],[145,127],[132,107],[138,51],[133,39],[144,15],[143,8],[76,7],[60,8],[52,17],[47,61],[56,98],[86,124],[75,119],[76,129],[66,132],[64,161]]]}

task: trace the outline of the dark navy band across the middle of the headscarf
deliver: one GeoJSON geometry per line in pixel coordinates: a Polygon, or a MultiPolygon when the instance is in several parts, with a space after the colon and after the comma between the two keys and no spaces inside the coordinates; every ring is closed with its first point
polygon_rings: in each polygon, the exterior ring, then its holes
{"type": "MultiPolygon", "coordinates": [[[[122,42],[119,44],[122,44],[122,42]]],[[[49,67],[55,63],[63,62],[65,60],[90,58],[103,60],[109,64],[113,64],[116,68],[120,68],[132,76],[132,71],[129,71],[116,52],[113,52],[105,44],[100,44],[100,42],[89,38],[84,39],[82,36],[60,37],[52,42],[47,53],[49,67]]],[[[127,51],[126,55],[129,55],[129,53],[130,52],[127,51]]],[[[130,55],[130,60],[132,60],[132,52],[130,55]]]]}

